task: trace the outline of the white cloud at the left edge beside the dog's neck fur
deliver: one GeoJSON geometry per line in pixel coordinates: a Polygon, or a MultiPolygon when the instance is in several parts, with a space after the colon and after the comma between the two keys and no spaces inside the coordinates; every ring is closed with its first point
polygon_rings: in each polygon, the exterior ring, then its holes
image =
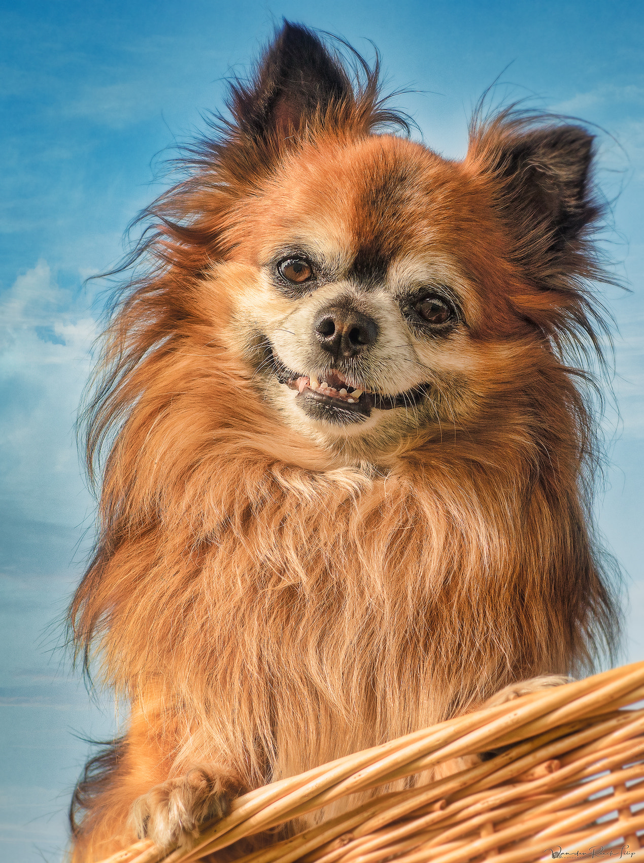
{"type": "Polygon", "coordinates": [[[2,498],[31,519],[78,524],[89,497],[73,424],[97,333],[90,297],[39,261],[0,294],[0,320],[2,498]]]}

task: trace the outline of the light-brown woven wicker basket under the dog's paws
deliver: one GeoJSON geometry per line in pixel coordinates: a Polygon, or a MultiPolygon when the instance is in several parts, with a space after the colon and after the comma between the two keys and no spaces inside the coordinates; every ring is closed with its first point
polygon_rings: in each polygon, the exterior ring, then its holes
{"type": "Polygon", "coordinates": [[[162,851],[144,840],[104,863],[193,863],[353,792],[496,749],[475,767],[372,797],[240,860],[644,860],[644,709],[632,707],[642,699],[644,662],[523,696],[251,791],[190,847],[162,851]]]}

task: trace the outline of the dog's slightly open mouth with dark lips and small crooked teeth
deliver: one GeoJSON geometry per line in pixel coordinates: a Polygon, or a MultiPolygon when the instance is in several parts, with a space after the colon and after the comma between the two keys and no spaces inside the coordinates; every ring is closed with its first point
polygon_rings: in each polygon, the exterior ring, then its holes
{"type": "Polygon", "coordinates": [[[304,375],[288,369],[275,354],[273,356],[277,380],[289,389],[296,390],[296,399],[301,400],[301,406],[317,419],[331,419],[339,423],[361,422],[369,418],[374,409],[390,411],[395,407],[411,407],[426,397],[426,386],[386,395],[361,387],[339,369],[304,375]]]}

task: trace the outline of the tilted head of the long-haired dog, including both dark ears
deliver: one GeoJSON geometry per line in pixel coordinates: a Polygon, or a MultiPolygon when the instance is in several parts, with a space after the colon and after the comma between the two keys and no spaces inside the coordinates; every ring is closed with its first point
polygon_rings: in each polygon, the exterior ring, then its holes
{"type": "Polygon", "coordinates": [[[557,413],[562,345],[592,333],[584,129],[506,112],[444,159],[382,134],[405,123],[377,70],[352,83],[290,24],[230,109],[153,209],[169,271],[148,297],[199,317],[253,398],[353,461],[557,413]]]}

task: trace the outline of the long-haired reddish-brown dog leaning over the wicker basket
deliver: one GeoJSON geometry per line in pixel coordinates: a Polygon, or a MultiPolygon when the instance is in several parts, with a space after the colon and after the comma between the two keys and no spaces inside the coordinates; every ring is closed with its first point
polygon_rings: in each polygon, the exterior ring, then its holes
{"type": "Polygon", "coordinates": [[[75,860],[615,644],[593,136],[479,110],[445,159],[342,46],[284,23],[123,266],[69,620],[130,715],[76,788],[75,860]]]}

